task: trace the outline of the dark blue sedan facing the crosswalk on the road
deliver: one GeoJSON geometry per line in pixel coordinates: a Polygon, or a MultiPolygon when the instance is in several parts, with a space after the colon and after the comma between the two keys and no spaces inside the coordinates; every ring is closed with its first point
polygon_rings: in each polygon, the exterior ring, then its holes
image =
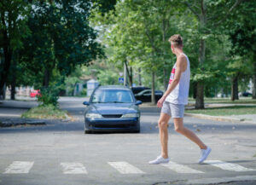
{"type": "Polygon", "coordinates": [[[84,133],[95,131],[140,132],[140,111],[131,90],[121,85],[99,86],[84,101],[84,133]]]}

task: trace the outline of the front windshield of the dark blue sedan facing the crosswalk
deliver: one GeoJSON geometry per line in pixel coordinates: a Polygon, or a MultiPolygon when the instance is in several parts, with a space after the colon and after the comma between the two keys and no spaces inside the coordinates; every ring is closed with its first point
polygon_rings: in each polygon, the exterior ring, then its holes
{"type": "Polygon", "coordinates": [[[129,90],[96,90],[92,95],[93,103],[131,103],[133,98],[129,90]]]}

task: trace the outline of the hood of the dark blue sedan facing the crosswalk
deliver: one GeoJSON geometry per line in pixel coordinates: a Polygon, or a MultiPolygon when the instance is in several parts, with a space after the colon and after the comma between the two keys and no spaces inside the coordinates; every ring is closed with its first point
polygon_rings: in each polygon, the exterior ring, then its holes
{"type": "Polygon", "coordinates": [[[124,114],[124,113],[138,113],[138,107],[131,103],[93,103],[91,104],[87,113],[100,114],[124,114]]]}

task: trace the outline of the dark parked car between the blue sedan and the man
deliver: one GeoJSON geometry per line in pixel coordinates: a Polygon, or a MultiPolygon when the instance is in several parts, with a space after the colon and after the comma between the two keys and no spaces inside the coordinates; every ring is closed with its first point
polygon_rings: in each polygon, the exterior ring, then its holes
{"type": "MultiPolygon", "coordinates": [[[[140,93],[136,94],[135,98],[138,101],[150,102],[151,101],[151,94],[152,94],[152,90],[143,90],[140,93]]],[[[159,101],[160,98],[162,97],[162,95],[164,95],[163,91],[155,90],[154,91],[155,101],[159,101]]]]}

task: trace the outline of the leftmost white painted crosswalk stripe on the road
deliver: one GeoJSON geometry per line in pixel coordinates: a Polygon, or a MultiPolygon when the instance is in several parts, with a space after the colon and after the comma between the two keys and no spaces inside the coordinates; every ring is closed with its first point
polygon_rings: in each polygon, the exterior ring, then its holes
{"type": "Polygon", "coordinates": [[[32,166],[33,161],[14,161],[8,168],[5,169],[3,173],[20,174],[28,173],[32,166]]]}

